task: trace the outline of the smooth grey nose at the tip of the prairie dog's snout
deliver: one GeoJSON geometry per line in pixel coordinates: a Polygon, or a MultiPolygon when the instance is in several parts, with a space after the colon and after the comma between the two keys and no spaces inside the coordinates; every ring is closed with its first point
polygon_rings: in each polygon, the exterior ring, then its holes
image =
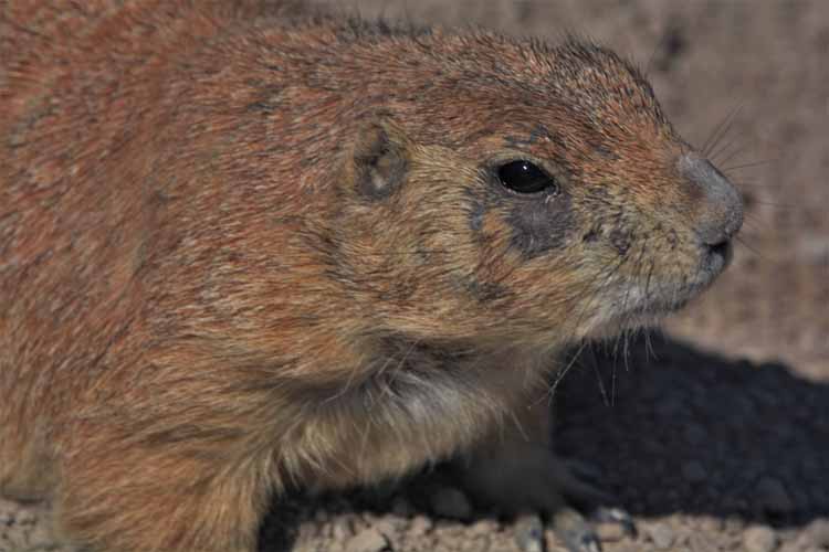
{"type": "Polygon", "coordinates": [[[696,234],[705,245],[720,245],[734,236],[743,225],[743,198],[728,179],[695,153],[679,160],[680,173],[692,187],[696,208],[696,234]]]}

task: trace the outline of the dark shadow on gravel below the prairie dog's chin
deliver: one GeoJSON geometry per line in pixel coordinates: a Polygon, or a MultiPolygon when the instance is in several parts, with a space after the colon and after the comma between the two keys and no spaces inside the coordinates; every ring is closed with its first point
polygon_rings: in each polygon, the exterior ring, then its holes
{"type": "Polygon", "coordinates": [[[595,464],[631,513],[787,527],[829,512],[826,383],[667,338],[580,363],[558,394],[558,449],[595,464]]]}

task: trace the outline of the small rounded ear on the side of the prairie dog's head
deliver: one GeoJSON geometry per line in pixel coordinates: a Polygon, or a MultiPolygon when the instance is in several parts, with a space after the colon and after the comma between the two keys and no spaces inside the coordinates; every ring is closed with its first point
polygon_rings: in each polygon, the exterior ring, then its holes
{"type": "Polygon", "coordinates": [[[354,191],[371,201],[395,193],[406,181],[411,149],[412,142],[388,116],[372,117],[359,128],[347,161],[354,191]]]}

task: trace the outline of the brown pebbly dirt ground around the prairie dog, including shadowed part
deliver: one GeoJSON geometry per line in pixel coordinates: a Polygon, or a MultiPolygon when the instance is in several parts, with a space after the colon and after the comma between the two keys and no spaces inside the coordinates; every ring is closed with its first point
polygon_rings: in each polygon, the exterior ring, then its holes
{"type": "MultiPolygon", "coordinates": [[[[691,142],[716,141],[748,206],[733,267],[664,336],[580,354],[556,390],[556,446],[637,523],[637,537],[600,526],[606,551],[829,550],[829,2],[330,3],[591,36],[648,71],[691,142]]],[[[0,551],[52,550],[40,520],[0,502],[0,551]]],[[[291,497],[261,550],[559,550],[534,523],[499,519],[436,473],[291,497]]]]}

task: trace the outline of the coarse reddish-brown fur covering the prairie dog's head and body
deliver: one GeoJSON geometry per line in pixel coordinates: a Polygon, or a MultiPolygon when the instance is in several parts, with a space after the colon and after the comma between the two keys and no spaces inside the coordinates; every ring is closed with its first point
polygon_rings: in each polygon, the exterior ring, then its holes
{"type": "Polygon", "coordinates": [[[61,539],[253,551],[288,482],[499,448],[727,262],[739,198],[616,54],[294,8],[0,9],[0,495],[61,539]]]}

